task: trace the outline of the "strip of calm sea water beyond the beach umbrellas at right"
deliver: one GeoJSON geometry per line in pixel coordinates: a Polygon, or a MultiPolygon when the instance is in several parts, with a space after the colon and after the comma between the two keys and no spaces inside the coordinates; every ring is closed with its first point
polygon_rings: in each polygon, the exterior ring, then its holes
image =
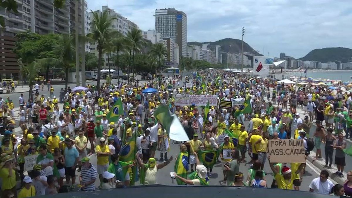
{"type": "MultiPolygon", "coordinates": [[[[301,76],[301,72],[287,72],[287,78],[290,75],[297,77],[301,76]]],[[[352,75],[351,70],[339,70],[339,71],[307,71],[307,78],[311,77],[313,79],[330,79],[330,80],[342,80],[342,81],[352,81],[350,76],[352,75]]],[[[302,77],[305,77],[306,74],[302,72],[302,77]]]]}

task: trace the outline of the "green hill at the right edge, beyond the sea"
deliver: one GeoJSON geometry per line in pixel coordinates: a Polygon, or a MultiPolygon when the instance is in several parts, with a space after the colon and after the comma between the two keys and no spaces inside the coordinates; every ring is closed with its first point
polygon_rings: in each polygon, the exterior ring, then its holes
{"type": "Polygon", "coordinates": [[[319,61],[322,63],[341,61],[343,63],[351,62],[352,49],[349,48],[323,48],[314,49],[306,56],[299,58],[302,61],[319,61]]]}

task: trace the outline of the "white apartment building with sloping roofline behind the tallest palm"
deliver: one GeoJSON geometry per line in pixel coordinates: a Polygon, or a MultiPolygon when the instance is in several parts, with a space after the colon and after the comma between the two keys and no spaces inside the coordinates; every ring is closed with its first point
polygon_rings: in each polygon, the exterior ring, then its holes
{"type": "MultiPolygon", "coordinates": [[[[113,9],[108,8],[108,6],[102,6],[101,10],[102,11],[107,10],[108,13],[109,13],[109,16],[115,18],[113,20],[112,24],[111,24],[111,28],[113,30],[119,31],[124,36],[127,36],[127,33],[129,31],[131,31],[133,28],[139,29],[137,24],[135,24],[132,21],[128,20],[126,17],[122,17],[121,14],[115,12],[113,9]]],[[[97,11],[94,11],[94,12],[101,13],[102,11],[97,10],[97,11]]],[[[93,12],[90,12],[89,16],[90,16],[90,20],[93,20],[93,12]]],[[[97,47],[96,43],[90,43],[90,52],[98,55],[98,50],[96,49],[96,47],[97,47]]],[[[103,68],[108,68],[109,67],[108,62],[109,62],[110,63],[110,69],[114,69],[115,63],[114,63],[113,58],[112,58],[114,55],[115,55],[114,53],[110,53],[109,54],[109,59],[108,59],[108,55],[107,54],[103,55],[103,60],[104,60],[103,68]]]]}

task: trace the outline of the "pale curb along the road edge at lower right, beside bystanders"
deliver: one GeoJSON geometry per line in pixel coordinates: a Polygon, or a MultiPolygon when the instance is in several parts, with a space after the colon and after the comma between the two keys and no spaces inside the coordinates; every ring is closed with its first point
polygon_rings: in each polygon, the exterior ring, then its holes
{"type": "Polygon", "coordinates": [[[346,172],[343,172],[344,177],[339,178],[337,177],[337,175],[333,174],[337,171],[337,167],[336,165],[332,164],[331,168],[325,168],[325,160],[324,159],[318,159],[318,160],[313,160],[313,157],[315,157],[315,152],[314,151],[310,151],[309,156],[307,157],[307,160],[312,163],[315,167],[319,168],[320,171],[322,170],[326,170],[329,172],[329,178],[336,181],[338,184],[344,185],[345,181],[346,181],[346,172]]]}

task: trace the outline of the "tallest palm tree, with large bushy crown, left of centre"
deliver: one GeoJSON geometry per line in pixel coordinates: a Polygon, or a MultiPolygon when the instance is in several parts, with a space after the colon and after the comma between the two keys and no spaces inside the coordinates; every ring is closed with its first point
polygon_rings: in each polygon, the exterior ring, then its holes
{"type": "MultiPolygon", "coordinates": [[[[92,10],[91,10],[92,11],[92,10]]],[[[98,92],[100,93],[100,69],[102,64],[102,55],[104,49],[106,49],[106,43],[111,36],[111,24],[114,18],[109,16],[107,10],[103,12],[93,12],[93,19],[92,19],[92,28],[91,32],[87,35],[87,37],[93,39],[97,44],[98,50],[98,79],[97,79],[97,88],[98,92]]]]}

